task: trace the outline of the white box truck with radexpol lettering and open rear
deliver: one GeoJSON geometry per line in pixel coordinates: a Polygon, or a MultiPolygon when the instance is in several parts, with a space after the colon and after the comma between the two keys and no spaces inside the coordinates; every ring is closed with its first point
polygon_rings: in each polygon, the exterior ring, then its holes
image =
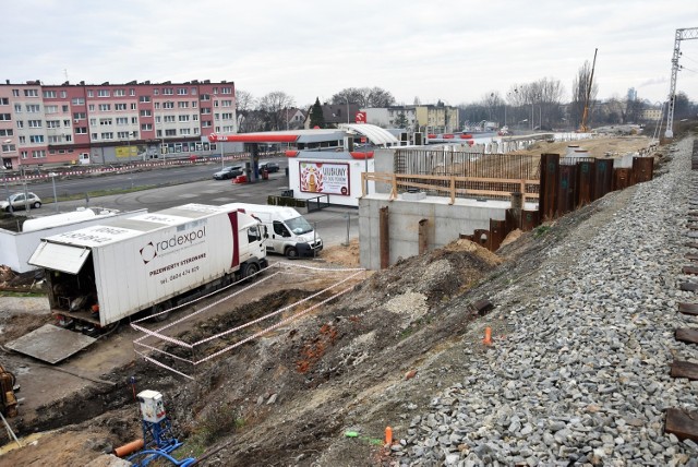
{"type": "Polygon", "coordinates": [[[92,335],[254,277],[268,265],[262,230],[238,208],[185,204],[44,238],[28,263],[59,323],[92,335]]]}

